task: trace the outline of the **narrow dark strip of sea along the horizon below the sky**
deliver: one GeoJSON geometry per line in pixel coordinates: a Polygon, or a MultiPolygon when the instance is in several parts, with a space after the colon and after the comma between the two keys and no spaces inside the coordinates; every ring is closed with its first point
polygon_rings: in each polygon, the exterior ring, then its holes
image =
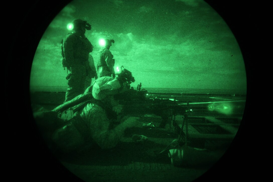
{"type": "MultiPolygon", "coordinates": [[[[30,92],[66,92],[67,87],[58,86],[32,86],[30,92]]],[[[136,89],[136,88],[135,88],[136,89]]],[[[184,89],[184,88],[145,88],[150,93],[170,93],[170,94],[209,94],[209,95],[246,95],[246,90],[236,89],[184,89]]]]}

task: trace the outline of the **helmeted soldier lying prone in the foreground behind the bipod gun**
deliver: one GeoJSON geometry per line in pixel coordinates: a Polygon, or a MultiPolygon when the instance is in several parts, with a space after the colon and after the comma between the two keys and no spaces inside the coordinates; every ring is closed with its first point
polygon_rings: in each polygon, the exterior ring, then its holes
{"type": "MultiPolygon", "coordinates": [[[[124,135],[128,122],[108,96],[122,92],[117,79],[101,77],[81,95],[34,118],[53,152],[82,152],[91,148],[114,148],[124,135]],[[111,86],[111,90],[101,89],[111,86]],[[120,91],[119,91],[120,90],[120,91]],[[104,100],[106,99],[106,100],[104,100]]],[[[129,121],[129,123],[132,123],[129,121]]]]}

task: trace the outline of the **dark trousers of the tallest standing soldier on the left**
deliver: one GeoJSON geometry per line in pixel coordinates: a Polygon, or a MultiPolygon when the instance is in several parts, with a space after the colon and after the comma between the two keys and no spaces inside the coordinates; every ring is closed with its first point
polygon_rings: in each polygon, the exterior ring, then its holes
{"type": "Polygon", "coordinates": [[[67,91],[64,102],[70,101],[76,96],[84,93],[86,77],[87,74],[85,66],[68,68],[68,74],[66,77],[67,91]]]}

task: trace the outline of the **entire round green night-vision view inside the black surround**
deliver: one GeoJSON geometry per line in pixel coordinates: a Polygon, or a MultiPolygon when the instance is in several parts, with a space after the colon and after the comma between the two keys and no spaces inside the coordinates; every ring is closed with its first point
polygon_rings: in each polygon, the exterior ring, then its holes
{"type": "Polygon", "coordinates": [[[84,181],[198,179],[232,144],[246,92],[238,42],[201,0],[71,1],[41,37],[30,77],[45,142],[84,181]],[[110,85],[99,101],[95,80],[110,85]]]}

